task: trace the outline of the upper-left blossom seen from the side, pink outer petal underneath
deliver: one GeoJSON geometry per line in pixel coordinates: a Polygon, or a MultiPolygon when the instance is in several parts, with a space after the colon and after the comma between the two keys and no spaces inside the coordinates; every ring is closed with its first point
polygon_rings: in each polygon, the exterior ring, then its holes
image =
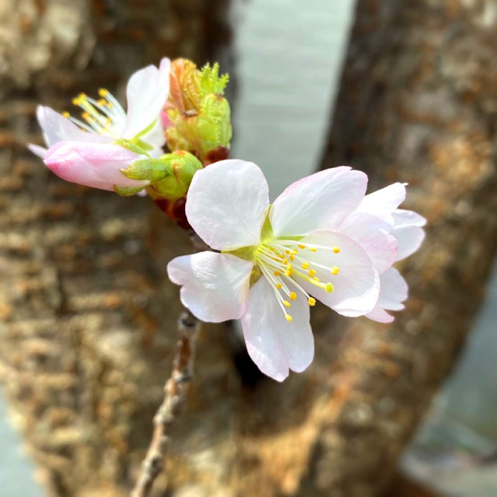
{"type": "Polygon", "coordinates": [[[39,106],[37,118],[48,150],[32,144],[28,148],[67,181],[104,190],[113,190],[114,185],[146,186],[148,181],[129,179],[120,169],[138,159],[164,154],[161,113],[169,93],[169,68],[170,61],[165,58],[159,68],[147,66],[131,76],[126,90],[127,113],[103,88],[98,100],[84,93],[73,99],[83,109],[83,120],[39,106]],[[138,152],[122,146],[126,143],[136,145],[138,152]]]}

